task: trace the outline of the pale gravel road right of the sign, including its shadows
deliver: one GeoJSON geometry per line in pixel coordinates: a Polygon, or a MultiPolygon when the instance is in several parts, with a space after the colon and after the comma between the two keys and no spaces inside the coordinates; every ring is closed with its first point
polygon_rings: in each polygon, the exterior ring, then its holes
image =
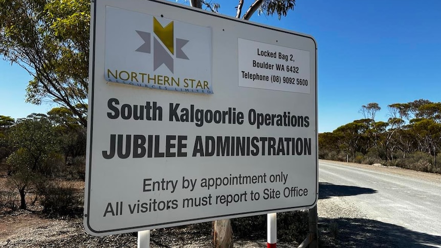
{"type": "Polygon", "coordinates": [[[441,175],[320,161],[319,187],[329,246],[441,247],[441,175]]]}

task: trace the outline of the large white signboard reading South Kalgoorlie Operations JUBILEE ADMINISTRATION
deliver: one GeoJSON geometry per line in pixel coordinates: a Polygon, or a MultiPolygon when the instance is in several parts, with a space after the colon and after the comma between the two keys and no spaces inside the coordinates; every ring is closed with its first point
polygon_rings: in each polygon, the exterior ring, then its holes
{"type": "Polygon", "coordinates": [[[315,206],[311,36],[171,2],[96,0],[91,41],[87,232],[315,206]]]}

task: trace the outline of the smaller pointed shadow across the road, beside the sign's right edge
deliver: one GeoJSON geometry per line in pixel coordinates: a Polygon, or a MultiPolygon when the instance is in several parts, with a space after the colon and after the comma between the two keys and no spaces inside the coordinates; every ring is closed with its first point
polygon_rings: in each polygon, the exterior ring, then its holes
{"type": "Polygon", "coordinates": [[[373,193],[377,193],[377,190],[356,186],[319,183],[319,199],[327,199],[332,196],[350,196],[373,193]]]}

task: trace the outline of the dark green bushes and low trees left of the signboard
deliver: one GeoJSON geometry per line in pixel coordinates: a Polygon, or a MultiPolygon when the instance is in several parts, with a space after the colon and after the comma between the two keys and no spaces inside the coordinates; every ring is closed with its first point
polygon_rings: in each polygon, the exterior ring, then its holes
{"type": "Polygon", "coordinates": [[[72,189],[57,183],[60,178],[84,179],[86,128],[75,117],[65,107],[17,120],[0,115],[0,165],[8,174],[0,209],[27,209],[37,199],[45,211],[77,207],[72,189]]]}

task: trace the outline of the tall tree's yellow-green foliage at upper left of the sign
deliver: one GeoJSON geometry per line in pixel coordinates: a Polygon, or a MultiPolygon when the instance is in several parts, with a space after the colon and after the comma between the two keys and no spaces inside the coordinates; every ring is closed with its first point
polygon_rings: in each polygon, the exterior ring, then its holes
{"type": "Polygon", "coordinates": [[[89,24],[87,0],[0,0],[0,54],[33,77],[27,101],[55,101],[84,126],[89,24]]]}

